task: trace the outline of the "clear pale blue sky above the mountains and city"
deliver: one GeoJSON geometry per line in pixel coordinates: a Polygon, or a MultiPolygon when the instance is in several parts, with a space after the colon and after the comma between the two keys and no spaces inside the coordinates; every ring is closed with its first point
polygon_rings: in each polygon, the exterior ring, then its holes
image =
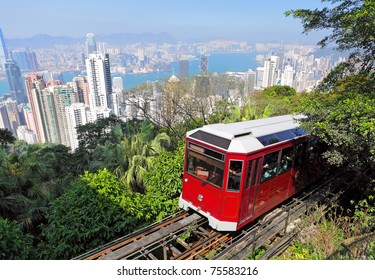
{"type": "Polygon", "coordinates": [[[283,40],[316,43],[322,33],[301,35],[288,9],[321,8],[320,0],[13,0],[2,1],[6,39],[36,34],[84,37],[86,33],[167,32],[185,39],[283,40]]]}

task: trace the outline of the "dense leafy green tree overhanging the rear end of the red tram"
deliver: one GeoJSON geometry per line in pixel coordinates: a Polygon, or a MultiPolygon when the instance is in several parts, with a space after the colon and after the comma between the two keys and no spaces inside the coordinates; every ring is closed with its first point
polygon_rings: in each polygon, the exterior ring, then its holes
{"type": "Polygon", "coordinates": [[[340,87],[316,92],[302,108],[307,116],[304,126],[327,144],[324,156],[328,161],[356,171],[375,165],[375,99],[373,92],[358,86],[364,77],[340,79],[340,87]],[[358,82],[356,88],[354,81],[358,82]]]}

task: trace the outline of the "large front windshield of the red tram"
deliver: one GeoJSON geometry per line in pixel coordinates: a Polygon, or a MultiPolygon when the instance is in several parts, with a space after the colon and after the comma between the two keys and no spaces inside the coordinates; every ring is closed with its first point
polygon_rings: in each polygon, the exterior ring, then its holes
{"type": "Polygon", "coordinates": [[[188,150],[186,172],[221,188],[223,185],[224,162],[188,150]]]}

